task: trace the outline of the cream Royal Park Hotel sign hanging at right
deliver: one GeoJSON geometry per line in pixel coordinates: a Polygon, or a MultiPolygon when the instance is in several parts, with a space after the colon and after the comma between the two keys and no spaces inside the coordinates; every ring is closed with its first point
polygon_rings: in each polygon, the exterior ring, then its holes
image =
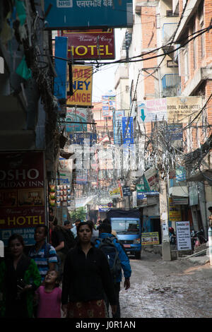
{"type": "MultiPolygon", "coordinates": [[[[179,124],[189,124],[196,115],[200,112],[202,107],[201,96],[189,97],[167,97],[167,121],[172,124],[178,122],[179,124]]],[[[198,118],[195,119],[198,121],[198,118]]]]}

